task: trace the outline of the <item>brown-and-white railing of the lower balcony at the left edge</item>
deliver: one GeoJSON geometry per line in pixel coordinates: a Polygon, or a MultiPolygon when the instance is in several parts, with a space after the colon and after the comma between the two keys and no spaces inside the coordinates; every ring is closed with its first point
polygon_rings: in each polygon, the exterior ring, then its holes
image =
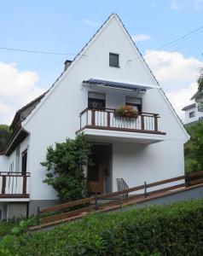
{"type": "Polygon", "coordinates": [[[28,198],[30,172],[0,172],[0,198],[28,198]]]}

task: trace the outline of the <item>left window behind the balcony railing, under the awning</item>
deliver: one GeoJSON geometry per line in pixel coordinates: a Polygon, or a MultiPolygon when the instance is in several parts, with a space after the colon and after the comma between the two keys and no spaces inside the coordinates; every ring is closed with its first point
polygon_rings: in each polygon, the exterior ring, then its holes
{"type": "Polygon", "coordinates": [[[101,109],[106,108],[106,96],[103,93],[88,93],[88,108],[101,109]]]}

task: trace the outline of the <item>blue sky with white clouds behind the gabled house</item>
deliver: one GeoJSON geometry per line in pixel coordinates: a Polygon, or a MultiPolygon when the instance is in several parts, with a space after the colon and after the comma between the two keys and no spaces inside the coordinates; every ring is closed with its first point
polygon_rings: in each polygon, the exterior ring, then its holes
{"type": "Polygon", "coordinates": [[[0,124],[49,89],[112,13],[183,119],[203,67],[203,0],[0,0],[0,124]]]}

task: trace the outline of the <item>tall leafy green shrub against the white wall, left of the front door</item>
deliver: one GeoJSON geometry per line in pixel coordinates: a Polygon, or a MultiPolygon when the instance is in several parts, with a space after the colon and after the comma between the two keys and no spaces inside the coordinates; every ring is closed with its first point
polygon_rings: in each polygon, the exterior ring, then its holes
{"type": "Polygon", "coordinates": [[[55,143],[47,148],[46,160],[41,163],[47,173],[44,183],[51,185],[61,201],[74,201],[85,194],[84,166],[90,162],[90,143],[84,135],[68,138],[65,143],[55,143]]]}

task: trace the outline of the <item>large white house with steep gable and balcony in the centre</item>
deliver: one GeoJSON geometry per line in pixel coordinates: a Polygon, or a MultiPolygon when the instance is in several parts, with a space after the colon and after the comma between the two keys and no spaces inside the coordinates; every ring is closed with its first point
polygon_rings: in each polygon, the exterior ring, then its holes
{"type": "Polygon", "coordinates": [[[0,157],[0,171],[8,172],[0,180],[4,217],[57,202],[55,190],[43,183],[40,162],[49,145],[80,132],[93,143],[91,192],[117,190],[117,178],[133,187],[184,173],[188,134],[115,14],[65,62],[49,91],[15,114],[11,128],[14,135],[0,157]],[[125,104],[139,111],[137,119],[115,115],[113,109],[125,104]]]}

